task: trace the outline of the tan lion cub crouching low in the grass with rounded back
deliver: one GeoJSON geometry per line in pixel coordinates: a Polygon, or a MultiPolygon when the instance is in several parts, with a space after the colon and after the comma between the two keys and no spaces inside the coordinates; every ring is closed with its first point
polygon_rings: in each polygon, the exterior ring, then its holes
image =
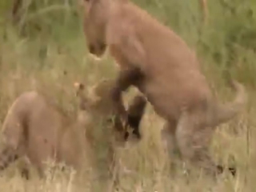
{"type": "MultiPolygon", "coordinates": [[[[44,170],[43,162],[47,158],[65,162],[76,170],[80,170],[83,165],[91,166],[93,151],[87,130],[97,128],[91,121],[94,115],[101,121],[104,115],[110,115],[106,109],[111,109],[109,104],[104,106],[107,104],[107,98],[104,98],[105,84],[99,84],[96,88],[102,91],[96,93],[97,100],[89,97],[82,100],[79,97],[77,119],[70,119],[43,94],[36,91],[21,94],[10,106],[2,125],[4,146],[0,153],[0,169],[4,170],[11,162],[22,157],[28,158],[41,176],[44,170]]],[[[77,89],[80,91],[80,88],[77,89]]],[[[141,117],[137,117],[138,126],[141,117]]],[[[106,126],[106,122],[103,123],[105,124],[102,126],[106,126]]],[[[108,124],[113,127],[113,124],[108,124]]]]}

